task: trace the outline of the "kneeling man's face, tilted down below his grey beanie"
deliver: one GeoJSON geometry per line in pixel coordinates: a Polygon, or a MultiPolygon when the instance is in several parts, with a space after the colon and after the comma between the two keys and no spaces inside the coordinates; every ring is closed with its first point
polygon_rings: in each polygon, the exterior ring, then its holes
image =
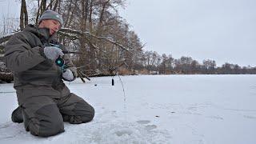
{"type": "Polygon", "coordinates": [[[40,25],[38,27],[50,29],[50,35],[53,35],[61,28],[61,24],[54,19],[46,19],[46,20],[42,20],[42,22],[40,22],[40,25]]]}

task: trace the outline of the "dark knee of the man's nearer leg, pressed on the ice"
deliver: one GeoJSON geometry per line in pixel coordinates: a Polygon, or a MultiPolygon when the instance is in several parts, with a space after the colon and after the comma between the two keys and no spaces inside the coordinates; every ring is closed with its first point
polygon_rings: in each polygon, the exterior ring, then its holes
{"type": "Polygon", "coordinates": [[[30,118],[26,113],[24,117],[26,129],[33,135],[49,137],[64,131],[62,115],[56,105],[43,106],[34,113],[34,118],[30,118]]]}

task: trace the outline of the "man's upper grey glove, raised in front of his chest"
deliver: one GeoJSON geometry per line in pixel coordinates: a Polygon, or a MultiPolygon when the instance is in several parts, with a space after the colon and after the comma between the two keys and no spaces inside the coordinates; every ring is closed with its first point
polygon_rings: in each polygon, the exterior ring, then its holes
{"type": "Polygon", "coordinates": [[[56,47],[56,46],[46,46],[43,49],[44,54],[46,55],[46,58],[49,58],[51,60],[56,60],[59,56],[63,56],[62,49],[56,47]]]}

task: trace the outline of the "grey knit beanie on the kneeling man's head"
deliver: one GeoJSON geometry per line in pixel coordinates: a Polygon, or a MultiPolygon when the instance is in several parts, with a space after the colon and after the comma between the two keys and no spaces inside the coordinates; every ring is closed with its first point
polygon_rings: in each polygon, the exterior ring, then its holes
{"type": "Polygon", "coordinates": [[[44,19],[54,19],[54,20],[58,21],[61,24],[61,26],[63,24],[62,15],[58,14],[57,12],[55,12],[53,10],[46,10],[45,12],[43,12],[41,17],[39,18],[39,23],[44,19]]]}

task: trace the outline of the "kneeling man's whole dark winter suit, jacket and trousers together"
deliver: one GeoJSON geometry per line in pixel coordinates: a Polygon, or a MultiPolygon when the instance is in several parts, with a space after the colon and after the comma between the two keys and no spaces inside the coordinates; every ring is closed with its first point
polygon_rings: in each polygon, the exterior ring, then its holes
{"type": "MultiPolygon", "coordinates": [[[[63,121],[78,124],[94,118],[94,108],[70,93],[62,81],[61,68],[43,54],[43,47],[50,43],[58,44],[49,29],[30,25],[14,34],[5,50],[6,66],[14,73],[22,121],[26,130],[42,137],[63,132],[63,121]]],[[[64,54],[63,59],[76,78],[69,56],[64,54]]]]}

